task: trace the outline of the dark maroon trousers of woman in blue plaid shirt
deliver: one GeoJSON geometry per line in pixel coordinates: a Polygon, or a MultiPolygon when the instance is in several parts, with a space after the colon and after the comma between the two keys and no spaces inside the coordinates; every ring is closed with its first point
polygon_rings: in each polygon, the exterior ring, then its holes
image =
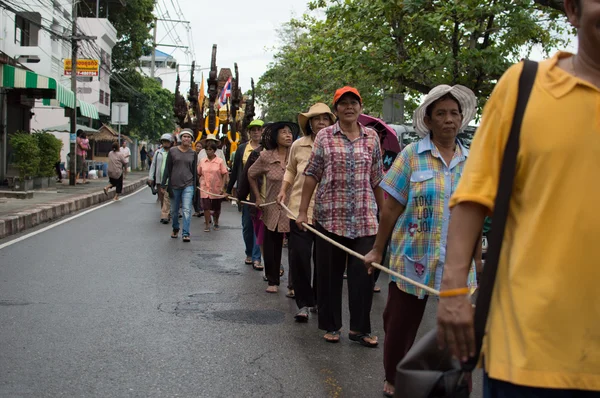
{"type": "Polygon", "coordinates": [[[383,367],[385,379],[390,384],[394,384],[396,366],[415,342],[428,297],[419,299],[398,289],[396,282],[389,284],[388,301],[383,311],[383,367]]]}

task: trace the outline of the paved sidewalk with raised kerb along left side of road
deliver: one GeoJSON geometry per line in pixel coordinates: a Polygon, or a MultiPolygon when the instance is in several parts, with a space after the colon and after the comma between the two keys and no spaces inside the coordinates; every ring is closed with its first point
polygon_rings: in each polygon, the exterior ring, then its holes
{"type": "MultiPolygon", "coordinates": [[[[123,194],[144,186],[147,179],[148,172],[129,173],[123,182],[123,194]]],[[[63,180],[56,188],[33,191],[33,197],[28,199],[0,198],[0,239],[112,200],[114,189],[108,196],[102,191],[108,178],[88,181],[89,184],[71,186],[63,180]]]]}

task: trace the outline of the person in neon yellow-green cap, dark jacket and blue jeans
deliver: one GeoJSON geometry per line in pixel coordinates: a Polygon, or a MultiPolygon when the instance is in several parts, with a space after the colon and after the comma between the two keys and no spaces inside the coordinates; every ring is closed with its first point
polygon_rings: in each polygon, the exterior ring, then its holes
{"type": "MultiPolygon", "coordinates": [[[[242,178],[244,166],[253,150],[260,146],[262,138],[264,122],[256,119],[248,124],[250,140],[241,144],[233,158],[231,166],[231,177],[227,184],[227,194],[231,195],[236,184],[239,186],[239,181],[242,178]]],[[[243,198],[244,200],[247,198],[243,198]]],[[[242,237],[244,239],[246,259],[245,264],[252,265],[255,269],[262,270],[260,246],[256,242],[256,235],[252,225],[251,206],[242,204],[242,237]]]]}

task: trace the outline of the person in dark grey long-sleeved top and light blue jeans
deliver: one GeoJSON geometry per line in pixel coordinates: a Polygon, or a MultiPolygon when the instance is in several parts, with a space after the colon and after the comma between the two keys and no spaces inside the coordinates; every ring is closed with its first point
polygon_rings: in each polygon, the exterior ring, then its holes
{"type": "Polygon", "coordinates": [[[190,241],[190,221],[192,216],[192,200],[196,189],[197,156],[192,149],[194,133],[190,129],[183,129],[179,133],[181,144],[169,150],[167,167],[161,185],[167,187],[171,195],[171,219],[173,232],[171,238],[179,236],[179,205],[183,213],[184,242],[190,241]]]}

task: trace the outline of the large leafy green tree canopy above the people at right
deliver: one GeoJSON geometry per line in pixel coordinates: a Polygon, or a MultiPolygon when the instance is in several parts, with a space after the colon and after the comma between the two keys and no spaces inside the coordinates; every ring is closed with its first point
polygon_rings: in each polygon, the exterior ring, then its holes
{"type": "Polygon", "coordinates": [[[533,46],[548,53],[569,31],[556,10],[533,0],[315,0],[280,31],[282,44],[257,95],[269,119],[294,118],[333,90],[359,89],[365,112],[386,93],[411,111],[439,84],[462,84],[485,102],[496,81],[533,46]]]}

